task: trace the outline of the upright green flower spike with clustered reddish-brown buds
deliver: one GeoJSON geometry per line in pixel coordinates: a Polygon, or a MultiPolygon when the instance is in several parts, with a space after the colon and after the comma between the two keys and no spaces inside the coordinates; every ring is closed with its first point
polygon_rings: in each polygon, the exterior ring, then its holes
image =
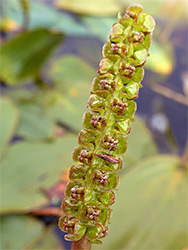
{"type": "Polygon", "coordinates": [[[148,56],[155,22],[139,5],[130,6],[112,27],[103,46],[98,76],[88,100],[91,112],[83,116],[84,129],[74,149],[76,162],[62,202],[59,220],[67,240],[77,241],[87,233],[92,243],[108,232],[110,206],[115,202],[122,167],[120,155],[127,148],[126,136],[134,121],[143,66],[148,56]]]}

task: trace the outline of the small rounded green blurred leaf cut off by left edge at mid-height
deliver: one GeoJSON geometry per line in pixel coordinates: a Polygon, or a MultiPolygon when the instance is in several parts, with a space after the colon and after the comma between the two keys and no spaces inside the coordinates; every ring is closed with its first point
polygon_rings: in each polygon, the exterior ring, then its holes
{"type": "Polygon", "coordinates": [[[15,133],[19,121],[16,105],[6,97],[0,97],[0,151],[15,133]]]}

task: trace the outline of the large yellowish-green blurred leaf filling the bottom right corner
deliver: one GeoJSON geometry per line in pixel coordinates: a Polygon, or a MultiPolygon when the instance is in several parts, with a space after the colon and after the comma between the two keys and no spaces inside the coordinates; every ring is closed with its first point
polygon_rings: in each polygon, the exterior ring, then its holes
{"type": "Polygon", "coordinates": [[[103,249],[186,247],[187,178],[181,164],[175,156],[157,156],[121,179],[103,249]]]}

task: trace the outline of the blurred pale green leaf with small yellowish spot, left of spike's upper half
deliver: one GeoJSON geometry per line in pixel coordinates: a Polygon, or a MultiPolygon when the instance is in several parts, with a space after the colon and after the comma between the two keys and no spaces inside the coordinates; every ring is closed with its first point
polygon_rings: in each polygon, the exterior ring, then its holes
{"type": "Polygon", "coordinates": [[[62,91],[62,98],[51,107],[51,114],[56,119],[74,129],[81,128],[95,74],[90,65],[75,56],[63,56],[53,63],[49,75],[62,91]]]}

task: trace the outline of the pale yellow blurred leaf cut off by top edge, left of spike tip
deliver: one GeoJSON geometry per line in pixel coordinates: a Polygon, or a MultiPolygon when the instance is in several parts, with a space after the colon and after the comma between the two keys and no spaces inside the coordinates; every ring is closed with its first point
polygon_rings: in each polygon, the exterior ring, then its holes
{"type": "Polygon", "coordinates": [[[121,10],[121,5],[113,0],[56,0],[55,5],[71,12],[96,16],[113,15],[121,10]]]}

